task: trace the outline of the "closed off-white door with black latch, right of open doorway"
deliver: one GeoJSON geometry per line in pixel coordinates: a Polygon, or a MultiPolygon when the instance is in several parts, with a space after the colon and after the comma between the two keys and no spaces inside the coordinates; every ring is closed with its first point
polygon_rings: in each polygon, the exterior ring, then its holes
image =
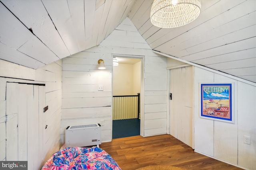
{"type": "Polygon", "coordinates": [[[170,135],[192,147],[192,66],[170,70],[170,135]]]}

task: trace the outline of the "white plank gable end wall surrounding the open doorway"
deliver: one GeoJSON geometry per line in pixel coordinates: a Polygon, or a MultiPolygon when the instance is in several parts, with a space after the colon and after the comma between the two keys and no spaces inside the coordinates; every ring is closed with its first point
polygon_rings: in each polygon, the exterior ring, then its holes
{"type": "Polygon", "coordinates": [[[105,106],[112,105],[112,54],[144,57],[143,134],[166,133],[166,57],[153,53],[130,19],[126,18],[97,47],[63,59],[62,143],[68,125],[99,123],[100,120],[105,122],[102,141],[111,141],[112,110],[105,106]],[[98,71],[98,59],[104,60],[106,71],[98,71]],[[98,92],[98,85],[104,85],[103,92],[98,92]]]}

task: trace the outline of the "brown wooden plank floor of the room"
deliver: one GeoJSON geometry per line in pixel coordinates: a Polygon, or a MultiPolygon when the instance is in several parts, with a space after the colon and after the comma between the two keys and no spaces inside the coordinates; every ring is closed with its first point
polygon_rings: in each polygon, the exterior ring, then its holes
{"type": "Polygon", "coordinates": [[[169,165],[188,170],[242,170],[194,152],[188,145],[171,135],[133,136],[102,143],[122,170],[136,170],[149,165],[169,165]]]}

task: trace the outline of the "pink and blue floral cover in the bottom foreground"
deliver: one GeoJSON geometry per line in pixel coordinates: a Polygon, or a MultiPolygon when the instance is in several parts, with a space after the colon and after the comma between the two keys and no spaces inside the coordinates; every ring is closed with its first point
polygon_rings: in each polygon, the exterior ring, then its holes
{"type": "Polygon", "coordinates": [[[70,147],[55,152],[42,170],[121,170],[116,161],[98,147],[70,147]]]}

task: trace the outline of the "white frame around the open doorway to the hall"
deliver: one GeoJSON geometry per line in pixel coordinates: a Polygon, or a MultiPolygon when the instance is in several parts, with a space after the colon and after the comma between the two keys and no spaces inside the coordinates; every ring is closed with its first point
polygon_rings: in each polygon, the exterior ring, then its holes
{"type": "MultiPolygon", "coordinates": [[[[142,55],[122,55],[122,54],[112,54],[112,61],[114,57],[130,58],[130,59],[140,59],[140,136],[144,137],[144,63],[145,56],[142,55]]],[[[111,101],[113,101],[113,66],[112,66],[112,85],[111,85],[111,101]]],[[[111,105],[111,131],[113,131],[113,104],[111,105]]],[[[112,134],[112,133],[111,133],[112,134]]],[[[112,137],[111,137],[112,139],[112,137]]]]}

